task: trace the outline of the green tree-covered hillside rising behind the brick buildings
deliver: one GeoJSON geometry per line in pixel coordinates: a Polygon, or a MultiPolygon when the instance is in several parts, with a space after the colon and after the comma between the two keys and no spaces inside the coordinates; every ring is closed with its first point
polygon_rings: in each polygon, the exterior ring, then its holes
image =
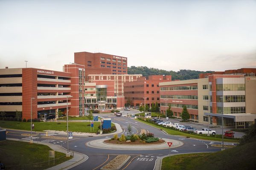
{"type": "Polygon", "coordinates": [[[212,71],[195,71],[195,70],[180,70],[180,71],[166,71],[158,68],[148,68],[146,66],[131,66],[128,67],[128,74],[142,74],[147,77],[150,75],[172,75],[172,80],[180,79],[198,79],[201,73],[211,73],[212,71]]]}

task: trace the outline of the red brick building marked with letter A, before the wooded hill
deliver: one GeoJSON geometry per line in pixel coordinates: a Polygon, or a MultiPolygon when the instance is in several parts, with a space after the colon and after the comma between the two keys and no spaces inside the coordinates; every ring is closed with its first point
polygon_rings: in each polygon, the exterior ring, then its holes
{"type": "Polygon", "coordinates": [[[145,104],[150,107],[152,103],[160,103],[159,83],[169,81],[172,81],[171,75],[151,75],[148,77],[140,77],[134,82],[125,82],[125,103],[130,101],[132,106],[144,105],[144,98],[145,104]]]}

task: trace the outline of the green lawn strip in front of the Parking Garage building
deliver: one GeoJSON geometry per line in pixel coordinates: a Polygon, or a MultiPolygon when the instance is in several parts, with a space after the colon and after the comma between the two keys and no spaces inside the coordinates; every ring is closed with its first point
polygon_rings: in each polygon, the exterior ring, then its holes
{"type": "MultiPolygon", "coordinates": [[[[43,130],[61,130],[67,131],[67,122],[34,122],[35,129],[33,131],[43,130]]],[[[96,133],[100,122],[94,122],[94,131],[96,133]]],[[[9,129],[30,130],[30,122],[16,121],[0,121],[0,127],[9,129]]],[[[73,132],[88,132],[90,133],[90,122],[69,122],[68,130],[73,132]]]]}

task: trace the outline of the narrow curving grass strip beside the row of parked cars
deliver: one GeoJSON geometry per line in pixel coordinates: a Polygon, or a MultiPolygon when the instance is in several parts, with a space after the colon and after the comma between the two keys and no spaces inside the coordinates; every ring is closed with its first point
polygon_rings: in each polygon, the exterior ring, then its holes
{"type": "MultiPolygon", "coordinates": [[[[215,141],[222,141],[221,138],[215,138],[215,137],[208,137],[208,136],[199,136],[199,135],[193,135],[193,134],[189,134],[189,133],[184,133],[178,130],[172,130],[172,129],[168,129],[166,127],[161,127],[159,125],[156,124],[152,124],[149,122],[145,122],[144,120],[140,120],[140,119],[136,119],[139,122],[143,122],[147,125],[151,125],[153,127],[157,127],[160,128],[164,131],[166,131],[166,133],[170,134],[170,135],[177,135],[177,136],[185,136],[185,137],[191,137],[191,138],[198,138],[198,139],[207,139],[207,140],[215,140],[215,141]]],[[[225,142],[239,142],[238,139],[224,139],[225,142]]]]}

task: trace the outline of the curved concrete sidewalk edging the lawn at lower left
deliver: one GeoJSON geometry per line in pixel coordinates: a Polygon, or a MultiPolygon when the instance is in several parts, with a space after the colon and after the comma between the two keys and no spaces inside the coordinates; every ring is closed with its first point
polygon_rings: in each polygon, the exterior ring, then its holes
{"type": "MultiPolygon", "coordinates": [[[[13,139],[13,138],[6,138],[7,140],[15,140],[15,141],[22,141],[22,142],[29,142],[27,140],[21,140],[21,139],[13,139]]],[[[67,153],[67,150],[64,149],[63,147],[61,147],[60,145],[57,144],[50,144],[50,143],[45,143],[45,142],[38,142],[38,144],[44,144],[49,146],[52,150],[55,150],[57,152],[61,152],[61,153],[67,153]]],[[[73,158],[65,161],[61,164],[58,164],[54,167],[50,167],[47,170],[68,170],[72,167],[75,167],[79,164],[81,164],[82,162],[86,161],[88,159],[87,155],[84,155],[82,153],[78,153],[78,152],[73,152],[70,151],[72,153],[74,153],[73,158]]]]}

